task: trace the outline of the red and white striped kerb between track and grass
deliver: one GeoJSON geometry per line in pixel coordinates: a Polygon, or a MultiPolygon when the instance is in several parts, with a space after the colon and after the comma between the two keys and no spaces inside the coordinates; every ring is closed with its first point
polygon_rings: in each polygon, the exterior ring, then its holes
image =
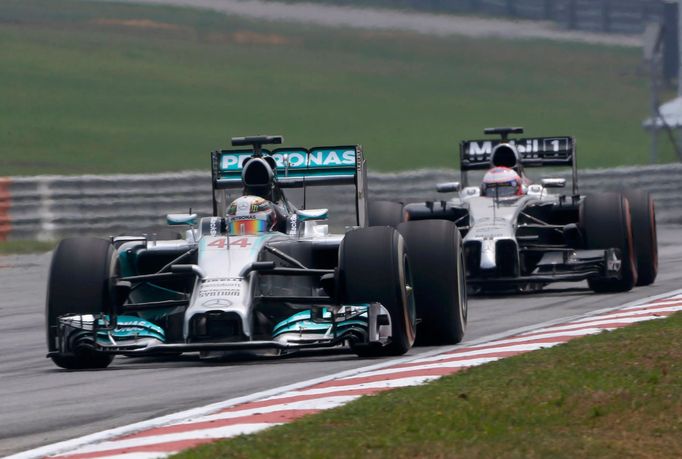
{"type": "MultiPolygon", "coordinates": [[[[166,457],[202,443],[258,432],[291,422],[303,416],[344,405],[364,395],[424,384],[465,368],[556,346],[580,336],[664,318],[681,310],[682,294],[657,298],[490,342],[448,348],[439,354],[417,357],[408,362],[401,361],[383,368],[312,383],[307,387],[216,409],[215,412],[143,429],[99,443],[86,444],[70,450],[62,448],[58,455],[50,457],[60,459],[166,457]]],[[[31,453],[28,451],[10,457],[41,457],[31,453]]]]}

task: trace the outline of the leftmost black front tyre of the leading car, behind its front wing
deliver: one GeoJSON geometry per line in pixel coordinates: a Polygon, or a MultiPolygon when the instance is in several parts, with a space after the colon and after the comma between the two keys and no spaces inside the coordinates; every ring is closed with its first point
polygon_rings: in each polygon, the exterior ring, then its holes
{"type": "MultiPolygon", "coordinates": [[[[52,255],[45,311],[50,352],[59,351],[59,316],[112,311],[115,261],[113,246],[104,239],[64,239],[59,243],[52,255]]],[[[91,338],[89,341],[92,344],[91,338]]],[[[114,358],[85,343],[61,351],[50,357],[57,366],[66,369],[105,368],[114,358]]]]}

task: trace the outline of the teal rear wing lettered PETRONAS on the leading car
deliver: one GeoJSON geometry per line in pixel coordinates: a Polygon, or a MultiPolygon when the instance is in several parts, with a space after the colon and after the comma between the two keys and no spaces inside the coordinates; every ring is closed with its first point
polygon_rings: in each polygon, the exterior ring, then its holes
{"type": "MultiPolygon", "coordinates": [[[[274,160],[275,186],[305,188],[307,186],[354,185],[357,198],[358,225],[366,223],[367,170],[360,145],[323,146],[313,148],[259,148],[258,154],[274,160]]],[[[211,178],[214,214],[217,212],[216,191],[244,187],[242,169],[253,149],[218,150],[211,153],[211,178]]]]}

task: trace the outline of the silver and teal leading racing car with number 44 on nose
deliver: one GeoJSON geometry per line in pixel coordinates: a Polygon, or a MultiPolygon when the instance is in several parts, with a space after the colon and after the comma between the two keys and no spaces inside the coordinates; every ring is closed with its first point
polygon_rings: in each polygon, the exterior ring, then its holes
{"type": "Polygon", "coordinates": [[[214,357],[345,344],[381,356],[405,353],[417,334],[460,341],[467,297],[456,226],[367,227],[360,147],[263,148],[281,142],[235,138],[249,148],[213,152],[213,215],[167,216],[188,226],[184,239],[63,240],[47,297],[54,363],[102,368],[116,354],[214,357]],[[299,209],[284,193],[302,189],[305,202],[316,185],[354,187],[346,232],[330,233],[326,209],[299,209]]]}

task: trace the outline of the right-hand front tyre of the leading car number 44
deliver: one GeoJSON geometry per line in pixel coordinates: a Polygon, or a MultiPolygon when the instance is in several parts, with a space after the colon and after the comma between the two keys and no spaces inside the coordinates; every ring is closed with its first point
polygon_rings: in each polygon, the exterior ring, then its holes
{"type": "Polygon", "coordinates": [[[350,231],[339,248],[338,295],[342,304],[381,303],[390,314],[390,342],[353,343],[361,357],[402,355],[415,339],[415,305],[405,241],[387,226],[350,231]]]}

